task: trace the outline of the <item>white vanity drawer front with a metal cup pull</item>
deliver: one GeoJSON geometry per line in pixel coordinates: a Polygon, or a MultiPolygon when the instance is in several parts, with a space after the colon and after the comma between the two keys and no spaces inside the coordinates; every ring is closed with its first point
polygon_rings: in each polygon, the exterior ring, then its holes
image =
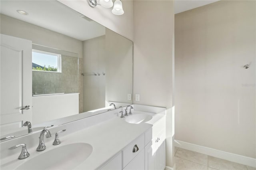
{"type": "Polygon", "coordinates": [[[134,141],[132,141],[124,150],[123,150],[123,168],[140,152],[144,149],[145,135],[142,134],[134,141]],[[137,152],[132,152],[134,146],[137,145],[139,150],[137,152]]]}

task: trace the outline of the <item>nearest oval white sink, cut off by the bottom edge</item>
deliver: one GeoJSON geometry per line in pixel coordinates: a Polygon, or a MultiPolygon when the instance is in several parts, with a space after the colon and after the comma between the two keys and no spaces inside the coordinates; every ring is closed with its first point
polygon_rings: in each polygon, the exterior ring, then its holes
{"type": "Polygon", "coordinates": [[[70,170],[84,162],[91,153],[90,144],[67,144],[49,151],[44,150],[42,154],[24,162],[16,170],[70,170]]]}

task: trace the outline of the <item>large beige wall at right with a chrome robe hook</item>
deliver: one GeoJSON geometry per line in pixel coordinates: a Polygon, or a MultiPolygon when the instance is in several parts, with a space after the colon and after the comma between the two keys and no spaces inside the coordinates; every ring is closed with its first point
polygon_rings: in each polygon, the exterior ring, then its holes
{"type": "Polygon", "coordinates": [[[176,140],[256,158],[255,7],[222,0],[175,15],[176,140]]]}

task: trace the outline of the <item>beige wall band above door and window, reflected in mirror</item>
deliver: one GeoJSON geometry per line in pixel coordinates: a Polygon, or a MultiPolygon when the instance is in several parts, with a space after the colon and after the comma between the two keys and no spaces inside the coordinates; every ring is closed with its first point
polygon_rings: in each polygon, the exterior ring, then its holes
{"type": "Polygon", "coordinates": [[[80,40],[47,30],[1,14],[1,34],[31,40],[32,43],[78,53],[83,57],[83,43],[80,40]]]}

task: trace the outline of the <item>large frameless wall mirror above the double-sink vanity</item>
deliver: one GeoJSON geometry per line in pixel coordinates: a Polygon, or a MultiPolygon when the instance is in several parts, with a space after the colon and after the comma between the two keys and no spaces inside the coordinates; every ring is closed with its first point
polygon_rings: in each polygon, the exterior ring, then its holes
{"type": "Polygon", "coordinates": [[[132,41],[55,0],[0,6],[1,141],[132,103],[132,41]]]}

